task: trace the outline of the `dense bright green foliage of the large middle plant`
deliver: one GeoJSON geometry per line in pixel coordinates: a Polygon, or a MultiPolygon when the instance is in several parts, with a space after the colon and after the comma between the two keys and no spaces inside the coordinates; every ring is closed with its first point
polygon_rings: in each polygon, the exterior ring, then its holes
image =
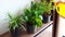
{"type": "Polygon", "coordinates": [[[24,18],[26,22],[32,25],[41,26],[42,21],[40,15],[42,14],[43,7],[40,3],[31,2],[30,8],[24,9],[24,18]]]}

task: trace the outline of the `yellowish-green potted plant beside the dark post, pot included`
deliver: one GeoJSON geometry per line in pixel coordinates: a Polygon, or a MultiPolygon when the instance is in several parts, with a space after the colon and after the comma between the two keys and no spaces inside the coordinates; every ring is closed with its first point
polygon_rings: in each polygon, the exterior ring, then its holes
{"type": "Polygon", "coordinates": [[[43,17],[43,23],[48,23],[50,22],[51,20],[51,10],[53,9],[53,5],[52,5],[52,2],[48,2],[48,1],[43,1],[43,7],[46,8],[43,11],[43,14],[42,14],[42,17],[43,17]]]}

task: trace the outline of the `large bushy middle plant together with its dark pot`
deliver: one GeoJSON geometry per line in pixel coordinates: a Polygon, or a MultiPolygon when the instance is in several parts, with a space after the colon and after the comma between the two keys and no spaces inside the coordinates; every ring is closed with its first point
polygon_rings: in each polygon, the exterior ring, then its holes
{"type": "Polygon", "coordinates": [[[42,25],[41,21],[41,10],[38,3],[31,2],[30,8],[24,10],[24,18],[26,21],[27,33],[32,34],[37,26],[42,25]],[[39,11],[38,11],[39,10],[39,11]]]}

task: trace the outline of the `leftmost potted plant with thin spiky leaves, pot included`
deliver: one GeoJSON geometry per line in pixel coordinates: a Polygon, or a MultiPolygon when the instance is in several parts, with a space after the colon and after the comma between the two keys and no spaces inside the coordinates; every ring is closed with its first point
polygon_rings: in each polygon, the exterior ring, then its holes
{"type": "Polygon", "coordinates": [[[21,15],[17,15],[16,17],[9,14],[9,28],[11,32],[12,37],[18,37],[18,35],[22,33],[22,20],[21,15]]]}

